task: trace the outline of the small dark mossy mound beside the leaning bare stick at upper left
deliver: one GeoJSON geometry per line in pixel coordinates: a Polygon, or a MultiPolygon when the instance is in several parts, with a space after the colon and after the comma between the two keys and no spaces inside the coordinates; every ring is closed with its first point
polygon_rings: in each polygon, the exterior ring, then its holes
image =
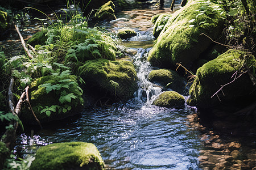
{"type": "Polygon", "coordinates": [[[36,32],[30,39],[28,39],[27,44],[30,44],[32,46],[36,45],[45,45],[47,41],[46,33],[48,32],[48,29],[42,29],[39,32],[36,32]]]}

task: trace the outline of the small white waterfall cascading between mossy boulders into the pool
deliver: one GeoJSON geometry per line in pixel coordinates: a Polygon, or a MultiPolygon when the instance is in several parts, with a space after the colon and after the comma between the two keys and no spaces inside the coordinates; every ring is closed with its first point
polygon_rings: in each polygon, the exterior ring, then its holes
{"type": "Polygon", "coordinates": [[[148,81],[147,76],[152,71],[150,63],[147,61],[147,54],[151,48],[139,48],[134,56],[134,65],[137,69],[139,89],[135,92],[135,101],[139,104],[151,104],[151,99],[162,92],[162,88],[148,81]]]}

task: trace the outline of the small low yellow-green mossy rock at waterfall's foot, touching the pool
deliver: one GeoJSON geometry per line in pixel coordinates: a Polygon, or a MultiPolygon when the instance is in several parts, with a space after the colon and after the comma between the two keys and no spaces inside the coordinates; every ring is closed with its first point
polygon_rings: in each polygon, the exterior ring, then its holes
{"type": "Polygon", "coordinates": [[[153,105],[166,108],[183,108],[184,104],[184,97],[175,91],[163,92],[153,102],[153,105]]]}

